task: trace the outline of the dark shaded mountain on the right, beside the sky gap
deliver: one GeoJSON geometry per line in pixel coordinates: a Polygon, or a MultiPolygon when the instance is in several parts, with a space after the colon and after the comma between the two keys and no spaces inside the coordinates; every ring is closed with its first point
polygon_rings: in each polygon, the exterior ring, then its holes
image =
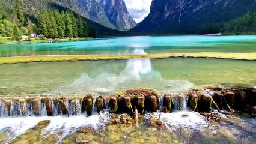
{"type": "Polygon", "coordinates": [[[255,0],[153,0],[150,14],[130,31],[195,34],[204,25],[230,22],[255,10],[255,0]]]}

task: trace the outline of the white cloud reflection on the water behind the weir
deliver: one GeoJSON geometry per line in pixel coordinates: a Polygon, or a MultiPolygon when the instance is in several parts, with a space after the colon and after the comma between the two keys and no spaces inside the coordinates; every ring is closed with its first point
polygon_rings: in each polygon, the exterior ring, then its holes
{"type": "MultiPolygon", "coordinates": [[[[136,48],[133,54],[147,54],[144,47],[136,48]]],[[[127,61],[126,67],[119,74],[101,71],[96,77],[83,73],[72,83],[67,83],[50,91],[51,94],[61,92],[65,95],[112,94],[121,89],[154,88],[159,92],[181,92],[192,88],[194,84],[186,80],[163,79],[159,71],[153,70],[149,58],[135,58],[127,61]]]]}

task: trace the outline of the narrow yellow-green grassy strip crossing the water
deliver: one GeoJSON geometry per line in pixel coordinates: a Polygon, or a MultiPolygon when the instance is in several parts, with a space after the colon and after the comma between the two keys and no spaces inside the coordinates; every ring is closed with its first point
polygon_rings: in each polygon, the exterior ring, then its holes
{"type": "Polygon", "coordinates": [[[20,62],[50,62],[50,61],[97,61],[130,58],[218,58],[256,61],[256,53],[163,53],[148,55],[40,55],[1,57],[0,64],[17,64],[20,62]]]}

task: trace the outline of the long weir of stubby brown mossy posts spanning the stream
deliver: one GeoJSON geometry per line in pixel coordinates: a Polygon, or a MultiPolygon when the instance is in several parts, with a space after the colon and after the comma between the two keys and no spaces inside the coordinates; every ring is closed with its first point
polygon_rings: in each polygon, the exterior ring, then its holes
{"type": "Polygon", "coordinates": [[[57,116],[97,115],[103,110],[130,115],[145,112],[173,112],[194,110],[219,112],[226,109],[233,113],[243,110],[256,114],[256,89],[221,88],[203,86],[180,94],[157,94],[149,88],[119,91],[114,95],[93,97],[0,97],[0,117],[5,116],[57,116]]]}

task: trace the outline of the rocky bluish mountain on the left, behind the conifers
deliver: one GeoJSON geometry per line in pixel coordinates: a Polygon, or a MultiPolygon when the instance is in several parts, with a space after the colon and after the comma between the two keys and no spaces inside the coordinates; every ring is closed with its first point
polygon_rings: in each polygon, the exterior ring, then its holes
{"type": "MultiPolygon", "coordinates": [[[[40,8],[67,8],[112,29],[126,31],[136,26],[123,0],[22,0],[25,14],[37,17],[40,8]]],[[[14,0],[0,0],[0,11],[13,12],[14,0]]]]}

